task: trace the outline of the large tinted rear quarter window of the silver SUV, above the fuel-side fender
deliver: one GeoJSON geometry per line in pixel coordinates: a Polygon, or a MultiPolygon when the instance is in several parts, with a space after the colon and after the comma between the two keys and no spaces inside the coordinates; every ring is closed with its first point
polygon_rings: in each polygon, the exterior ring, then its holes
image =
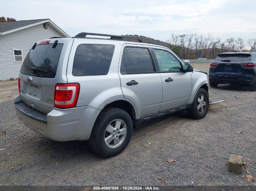
{"type": "Polygon", "coordinates": [[[115,46],[105,44],[80,44],[73,63],[74,76],[106,75],[115,46]]]}

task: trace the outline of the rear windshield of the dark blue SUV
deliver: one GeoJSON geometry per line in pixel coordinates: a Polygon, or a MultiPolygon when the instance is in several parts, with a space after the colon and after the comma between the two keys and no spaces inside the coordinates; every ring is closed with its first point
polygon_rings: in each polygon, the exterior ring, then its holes
{"type": "Polygon", "coordinates": [[[220,54],[215,61],[219,62],[244,62],[250,61],[250,54],[220,54]]]}

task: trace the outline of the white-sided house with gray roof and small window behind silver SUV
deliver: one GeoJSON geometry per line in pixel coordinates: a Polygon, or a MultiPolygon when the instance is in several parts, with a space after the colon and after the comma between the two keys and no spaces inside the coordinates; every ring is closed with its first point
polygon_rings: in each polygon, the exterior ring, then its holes
{"type": "Polygon", "coordinates": [[[50,19],[0,22],[0,80],[18,78],[34,43],[51,37],[69,36],[50,19]]]}

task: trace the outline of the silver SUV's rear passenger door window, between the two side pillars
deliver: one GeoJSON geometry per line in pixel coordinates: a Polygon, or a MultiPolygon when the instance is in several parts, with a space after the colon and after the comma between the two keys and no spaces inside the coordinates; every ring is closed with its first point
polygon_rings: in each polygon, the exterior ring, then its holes
{"type": "Polygon", "coordinates": [[[148,49],[140,47],[125,47],[120,72],[121,74],[155,72],[148,49]]]}

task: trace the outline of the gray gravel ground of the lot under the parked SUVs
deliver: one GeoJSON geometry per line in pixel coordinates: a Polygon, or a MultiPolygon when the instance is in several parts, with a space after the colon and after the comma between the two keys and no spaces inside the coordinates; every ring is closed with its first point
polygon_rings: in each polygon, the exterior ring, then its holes
{"type": "MultiPolygon", "coordinates": [[[[209,64],[194,68],[208,72],[209,64]]],[[[106,159],[87,141],[54,142],[24,126],[12,100],[17,86],[0,82],[0,185],[256,185],[242,177],[248,170],[256,178],[256,92],[248,87],[209,87],[211,101],[227,101],[204,119],[181,112],[141,124],[125,151],[106,159]],[[241,174],[228,171],[230,154],[248,162],[241,174]]]]}

